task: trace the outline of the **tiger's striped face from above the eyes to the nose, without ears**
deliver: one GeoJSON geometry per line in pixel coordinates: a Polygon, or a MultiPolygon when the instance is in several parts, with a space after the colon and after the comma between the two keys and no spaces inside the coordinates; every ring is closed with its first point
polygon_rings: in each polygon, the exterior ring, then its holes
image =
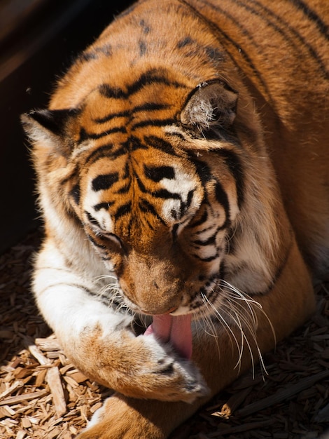
{"type": "Polygon", "coordinates": [[[80,220],[130,306],[186,313],[202,303],[200,289],[216,290],[238,211],[235,182],[225,166],[216,179],[207,154],[187,160],[137,138],[125,143],[113,161],[90,161],[79,182],[80,220]]]}

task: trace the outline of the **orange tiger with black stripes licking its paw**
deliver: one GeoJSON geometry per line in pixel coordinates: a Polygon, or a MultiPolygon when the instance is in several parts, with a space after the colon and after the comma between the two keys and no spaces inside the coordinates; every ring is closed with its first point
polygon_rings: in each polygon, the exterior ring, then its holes
{"type": "Polygon", "coordinates": [[[328,19],[321,0],[137,1],[22,116],[36,303],[113,390],[78,438],[167,438],[314,312],[328,19]]]}

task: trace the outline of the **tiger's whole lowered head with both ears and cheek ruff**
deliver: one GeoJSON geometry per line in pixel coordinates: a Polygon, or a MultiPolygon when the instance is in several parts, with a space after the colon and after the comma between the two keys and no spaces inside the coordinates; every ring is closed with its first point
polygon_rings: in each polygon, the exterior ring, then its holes
{"type": "Polygon", "coordinates": [[[271,172],[237,102],[225,81],[192,87],[153,69],[23,118],[47,233],[71,264],[114,271],[134,311],[204,312],[223,282],[250,293],[273,281],[271,172]]]}

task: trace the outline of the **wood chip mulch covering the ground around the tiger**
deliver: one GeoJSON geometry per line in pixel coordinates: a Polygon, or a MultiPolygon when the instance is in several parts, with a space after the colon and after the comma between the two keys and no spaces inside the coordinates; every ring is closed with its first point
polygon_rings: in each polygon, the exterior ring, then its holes
{"type": "MultiPolygon", "coordinates": [[[[41,232],[0,256],[0,438],[74,438],[109,389],[76,370],[31,296],[41,232]]],[[[329,439],[329,284],[316,315],[178,428],[172,439],[329,439]]],[[[220,373],[220,371],[218,371],[220,373]]]]}

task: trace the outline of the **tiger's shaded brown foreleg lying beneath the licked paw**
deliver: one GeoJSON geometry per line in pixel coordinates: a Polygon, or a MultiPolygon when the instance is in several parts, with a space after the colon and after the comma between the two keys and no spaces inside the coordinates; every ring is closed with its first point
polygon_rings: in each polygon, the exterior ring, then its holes
{"type": "Polygon", "coordinates": [[[267,295],[256,297],[255,300],[261,305],[255,311],[256,338],[253,338],[253,330],[248,333],[248,328],[244,328],[244,336],[248,339],[250,349],[245,346],[241,351],[241,344],[237,346],[235,340],[239,340],[239,336],[241,339],[241,331],[234,325],[230,332],[219,322],[215,323],[213,328],[216,328],[217,337],[214,337],[215,334],[207,335],[202,332],[202,328],[195,335],[193,361],[200,367],[211,389],[208,396],[187,404],[137,400],[116,394],[106,400],[78,438],[167,438],[176,426],[188,419],[211,396],[250,367],[253,360],[258,359],[260,352],[272,349],[275,341],[279,341],[300,325],[314,310],[315,302],[309,271],[295,241],[274,288],[267,295]]]}

